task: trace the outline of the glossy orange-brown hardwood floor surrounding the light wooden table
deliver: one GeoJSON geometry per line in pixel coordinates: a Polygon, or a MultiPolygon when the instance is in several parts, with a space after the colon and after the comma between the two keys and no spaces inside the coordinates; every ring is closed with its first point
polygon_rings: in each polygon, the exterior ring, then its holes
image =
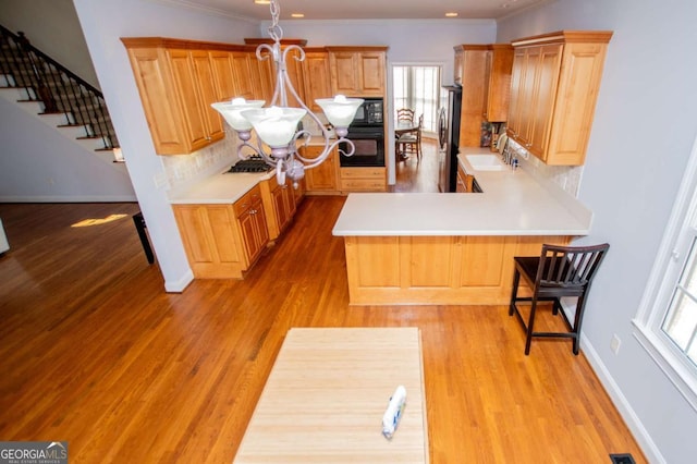
{"type": "Polygon", "coordinates": [[[348,306],[343,202],[306,198],[244,281],[182,294],[147,264],[137,205],[0,205],[0,437],[68,440],[71,463],[230,463],[289,328],[409,326],[432,463],[646,462],[583,353],[525,356],[505,307],[348,306]]]}

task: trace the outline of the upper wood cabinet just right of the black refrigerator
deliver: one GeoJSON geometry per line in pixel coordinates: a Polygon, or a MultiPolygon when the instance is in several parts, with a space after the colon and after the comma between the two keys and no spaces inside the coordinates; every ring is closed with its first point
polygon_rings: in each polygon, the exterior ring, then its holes
{"type": "Polygon", "coordinates": [[[509,44],[492,44],[487,51],[485,65],[484,119],[489,122],[505,122],[511,95],[511,71],[513,47],[509,44]]]}

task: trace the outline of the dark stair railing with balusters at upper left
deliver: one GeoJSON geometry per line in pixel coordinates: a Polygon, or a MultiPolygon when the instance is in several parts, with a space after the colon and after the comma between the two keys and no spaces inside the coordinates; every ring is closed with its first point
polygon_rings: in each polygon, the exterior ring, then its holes
{"type": "Polygon", "coordinates": [[[86,138],[101,138],[105,149],[119,147],[101,91],[35,48],[24,33],[2,25],[0,33],[0,74],[8,86],[26,88],[45,113],[65,113],[68,125],[84,125],[86,138]]]}

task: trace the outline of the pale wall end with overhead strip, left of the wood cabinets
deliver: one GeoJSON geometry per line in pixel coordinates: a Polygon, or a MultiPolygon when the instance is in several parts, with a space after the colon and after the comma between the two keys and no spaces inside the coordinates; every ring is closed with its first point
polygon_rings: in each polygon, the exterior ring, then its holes
{"type": "Polygon", "coordinates": [[[129,173],[157,254],[168,291],[183,290],[193,278],[176,222],[155,176],[163,173],[120,37],[162,36],[242,42],[257,25],[175,9],[144,0],[75,0],[75,10],[101,84],[129,173]]]}

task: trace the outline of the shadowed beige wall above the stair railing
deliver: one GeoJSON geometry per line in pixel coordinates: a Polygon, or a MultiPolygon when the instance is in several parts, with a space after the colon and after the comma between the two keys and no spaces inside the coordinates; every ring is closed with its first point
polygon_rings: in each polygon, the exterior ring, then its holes
{"type": "Polygon", "coordinates": [[[0,0],[0,24],[99,88],[72,0],[0,0]]]}

